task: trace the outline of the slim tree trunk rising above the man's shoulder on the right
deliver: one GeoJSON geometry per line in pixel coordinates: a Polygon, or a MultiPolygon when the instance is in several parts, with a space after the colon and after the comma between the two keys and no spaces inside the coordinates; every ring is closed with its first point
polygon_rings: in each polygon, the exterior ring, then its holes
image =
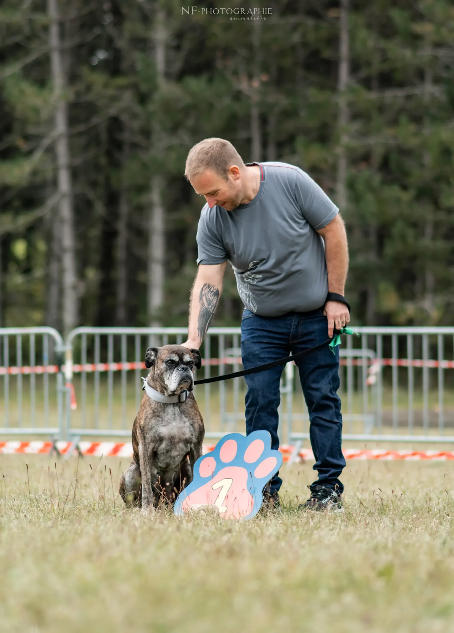
{"type": "Polygon", "coordinates": [[[343,211],[347,206],[347,155],[346,126],[349,120],[346,89],[349,82],[349,0],[340,0],[340,23],[339,23],[339,77],[338,96],[339,111],[337,115],[337,126],[339,133],[339,149],[337,154],[337,206],[343,211]]]}

